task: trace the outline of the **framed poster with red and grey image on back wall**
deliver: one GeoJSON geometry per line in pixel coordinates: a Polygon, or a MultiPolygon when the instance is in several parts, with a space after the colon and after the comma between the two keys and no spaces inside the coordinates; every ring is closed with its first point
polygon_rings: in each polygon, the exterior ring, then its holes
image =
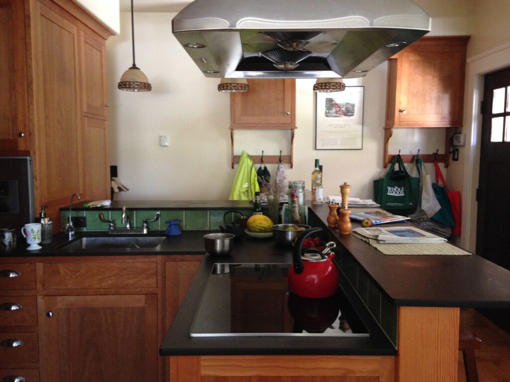
{"type": "Polygon", "coordinates": [[[316,150],[363,149],[364,86],[317,93],[316,150]]]}

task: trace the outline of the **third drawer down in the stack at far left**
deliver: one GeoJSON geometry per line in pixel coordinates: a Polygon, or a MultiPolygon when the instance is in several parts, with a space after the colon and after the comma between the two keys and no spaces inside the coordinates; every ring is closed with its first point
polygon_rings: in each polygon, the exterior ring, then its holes
{"type": "Polygon", "coordinates": [[[37,333],[0,333],[0,363],[38,362],[37,333]],[[12,346],[13,342],[21,342],[12,346]]]}

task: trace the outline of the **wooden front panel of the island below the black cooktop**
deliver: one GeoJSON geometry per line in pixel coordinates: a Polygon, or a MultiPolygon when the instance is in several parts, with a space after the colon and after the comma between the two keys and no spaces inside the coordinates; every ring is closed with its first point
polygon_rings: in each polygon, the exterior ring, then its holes
{"type": "Polygon", "coordinates": [[[393,382],[391,356],[170,357],[172,382],[393,382]]]}

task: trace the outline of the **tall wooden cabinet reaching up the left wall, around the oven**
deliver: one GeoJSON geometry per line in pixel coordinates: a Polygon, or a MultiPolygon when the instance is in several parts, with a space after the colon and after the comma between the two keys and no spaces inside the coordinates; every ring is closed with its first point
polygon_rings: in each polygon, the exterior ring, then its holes
{"type": "Polygon", "coordinates": [[[111,35],[72,0],[0,0],[0,155],[33,157],[35,212],[55,230],[73,193],[110,197],[111,35]]]}

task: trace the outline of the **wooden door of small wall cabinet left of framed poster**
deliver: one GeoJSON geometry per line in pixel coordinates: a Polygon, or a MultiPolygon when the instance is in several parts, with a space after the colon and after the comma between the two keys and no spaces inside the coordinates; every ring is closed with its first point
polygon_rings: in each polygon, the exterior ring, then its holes
{"type": "Polygon", "coordinates": [[[231,94],[231,128],[295,128],[295,79],[248,79],[250,91],[231,94]]]}

